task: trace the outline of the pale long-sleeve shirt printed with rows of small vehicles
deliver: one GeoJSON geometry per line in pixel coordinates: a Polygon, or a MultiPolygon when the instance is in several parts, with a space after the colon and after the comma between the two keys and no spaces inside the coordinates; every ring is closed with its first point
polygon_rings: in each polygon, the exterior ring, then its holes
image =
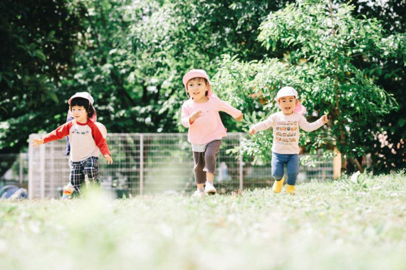
{"type": "Polygon", "coordinates": [[[253,125],[251,128],[254,128],[256,132],[273,128],[272,151],[280,154],[298,154],[300,150],[299,127],[309,132],[323,125],[321,118],[316,122],[309,123],[300,113],[293,112],[290,115],[285,115],[280,111],[271,114],[268,119],[253,125]]]}

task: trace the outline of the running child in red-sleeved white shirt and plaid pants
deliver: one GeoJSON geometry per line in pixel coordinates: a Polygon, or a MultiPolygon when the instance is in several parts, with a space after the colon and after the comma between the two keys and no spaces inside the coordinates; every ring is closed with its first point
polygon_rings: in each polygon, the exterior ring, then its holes
{"type": "Polygon", "coordinates": [[[97,125],[90,120],[96,113],[91,100],[91,96],[86,92],[76,93],[68,101],[74,120],[63,124],[41,139],[33,139],[31,141],[31,145],[37,147],[43,143],[69,136],[71,144],[70,180],[75,190],[79,193],[81,185],[85,182],[85,174],[90,183],[98,183],[99,151],[103,154],[108,164],[113,163],[106,139],[101,134],[97,125]]]}

